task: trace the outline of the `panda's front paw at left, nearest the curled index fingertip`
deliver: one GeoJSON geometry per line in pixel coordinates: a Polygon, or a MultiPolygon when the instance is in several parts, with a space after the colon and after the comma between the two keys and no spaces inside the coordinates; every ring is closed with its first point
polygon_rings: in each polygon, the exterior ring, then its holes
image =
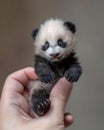
{"type": "Polygon", "coordinates": [[[54,72],[51,72],[49,74],[42,74],[40,76],[40,80],[44,83],[51,83],[52,81],[55,80],[55,73],[54,72]]]}

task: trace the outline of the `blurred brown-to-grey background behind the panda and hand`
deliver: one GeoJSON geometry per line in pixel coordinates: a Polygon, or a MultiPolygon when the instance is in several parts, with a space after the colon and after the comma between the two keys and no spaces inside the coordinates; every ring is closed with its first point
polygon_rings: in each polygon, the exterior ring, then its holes
{"type": "Polygon", "coordinates": [[[67,106],[75,121],[68,130],[104,129],[104,0],[0,0],[0,92],[8,74],[33,66],[34,27],[50,17],[77,26],[83,75],[67,106]]]}

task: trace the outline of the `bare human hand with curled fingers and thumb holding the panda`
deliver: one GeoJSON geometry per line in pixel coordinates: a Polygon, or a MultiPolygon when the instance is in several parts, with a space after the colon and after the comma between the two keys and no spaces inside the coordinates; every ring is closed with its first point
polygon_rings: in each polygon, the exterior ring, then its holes
{"type": "Polygon", "coordinates": [[[25,86],[29,80],[37,78],[31,67],[7,77],[0,100],[0,130],[65,130],[65,127],[72,124],[73,116],[64,114],[72,89],[72,84],[65,78],[61,78],[51,92],[49,112],[43,117],[31,114],[25,86]]]}

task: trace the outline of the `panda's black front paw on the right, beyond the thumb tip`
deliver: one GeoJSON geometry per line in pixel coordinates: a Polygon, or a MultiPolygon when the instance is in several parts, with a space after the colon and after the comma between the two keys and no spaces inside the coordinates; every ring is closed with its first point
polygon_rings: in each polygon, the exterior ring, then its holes
{"type": "Polygon", "coordinates": [[[64,76],[70,82],[77,82],[81,73],[81,67],[72,67],[65,72],[64,76]]]}

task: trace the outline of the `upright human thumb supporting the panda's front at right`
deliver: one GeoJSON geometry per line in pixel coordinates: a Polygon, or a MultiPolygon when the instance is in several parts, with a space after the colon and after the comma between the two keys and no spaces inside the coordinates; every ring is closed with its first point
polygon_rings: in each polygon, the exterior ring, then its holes
{"type": "Polygon", "coordinates": [[[63,115],[68,97],[70,96],[72,83],[61,78],[51,91],[51,107],[55,115],[63,115]]]}

